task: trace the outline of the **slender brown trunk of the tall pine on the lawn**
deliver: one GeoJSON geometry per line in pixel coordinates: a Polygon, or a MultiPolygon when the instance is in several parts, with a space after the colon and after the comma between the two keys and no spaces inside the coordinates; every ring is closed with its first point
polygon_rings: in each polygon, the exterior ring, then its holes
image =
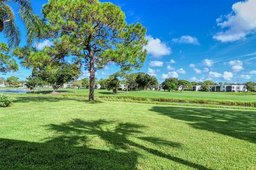
{"type": "Polygon", "coordinates": [[[94,69],[94,51],[90,51],[90,92],[89,101],[94,101],[94,79],[95,79],[95,69],[94,69]]]}

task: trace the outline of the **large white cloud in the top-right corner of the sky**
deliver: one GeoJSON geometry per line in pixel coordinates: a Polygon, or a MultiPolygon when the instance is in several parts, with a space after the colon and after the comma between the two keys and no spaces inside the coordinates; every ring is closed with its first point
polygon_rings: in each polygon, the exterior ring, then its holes
{"type": "Polygon", "coordinates": [[[232,5],[232,12],[216,19],[221,31],[213,38],[221,42],[234,42],[244,39],[256,30],[256,1],[247,0],[232,5]]]}

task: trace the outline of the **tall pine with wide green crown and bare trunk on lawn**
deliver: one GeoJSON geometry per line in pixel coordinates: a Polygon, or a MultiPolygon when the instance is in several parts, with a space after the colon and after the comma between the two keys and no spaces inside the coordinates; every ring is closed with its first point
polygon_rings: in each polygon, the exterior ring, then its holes
{"type": "Polygon", "coordinates": [[[96,68],[116,62],[121,68],[138,69],[145,61],[146,29],[139,23],[127,25],[117,5],[98,0],[49,0],[43,16],[47,36],[56,46],[84,59],[90,71],[90,101],[94,100],[96,68]]]}

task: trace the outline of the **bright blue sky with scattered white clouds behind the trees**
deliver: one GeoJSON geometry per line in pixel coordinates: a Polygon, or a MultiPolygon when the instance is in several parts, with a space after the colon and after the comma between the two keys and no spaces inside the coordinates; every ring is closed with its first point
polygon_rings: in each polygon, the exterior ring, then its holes
{"type": "MultiPolygon", "coordinates": [[[[35,13],[40,14],[47,2],[31,0],[35,13]]],[[[140,22],[147,28],[148,56],[140,71],[156,76],[159,82],[168,77],[189,81],[256,81],[255,0],[110,2],[121,7],[128,24],[140,22]]],[[[24,26],[19,26],[24,32],[24,26]]],[[[0,41],[5,42],[2,34],[0,41]]],[[[24,43],[22,40],[20,46],[24,43]]],[[[45,44],[49,42],[40,45],[45,44]]],[[[118,70],[115,65],[107,66],[96,71],[96,77],[108,78],[118,70]]],[[[19,71],[3,77],[15,75],[25,80],[30,73],[31,70],[20,66],[19,71]]],[[[84,71],[82,77],[88,76],[84,71]]]]}

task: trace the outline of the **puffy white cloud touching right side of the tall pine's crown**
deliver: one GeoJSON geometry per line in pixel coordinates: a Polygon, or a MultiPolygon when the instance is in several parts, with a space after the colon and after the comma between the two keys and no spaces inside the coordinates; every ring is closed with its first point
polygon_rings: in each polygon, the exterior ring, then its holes
{"type": "Polygon", "coordinates": [[[151,35],[147,35],[145,38],[148,40],[148,44],[144,48],[148,50],[148,54],[152,57],[161,58],[172,53],[171,48],[167,47],[160,39],[154,39],[151,35]]]}

